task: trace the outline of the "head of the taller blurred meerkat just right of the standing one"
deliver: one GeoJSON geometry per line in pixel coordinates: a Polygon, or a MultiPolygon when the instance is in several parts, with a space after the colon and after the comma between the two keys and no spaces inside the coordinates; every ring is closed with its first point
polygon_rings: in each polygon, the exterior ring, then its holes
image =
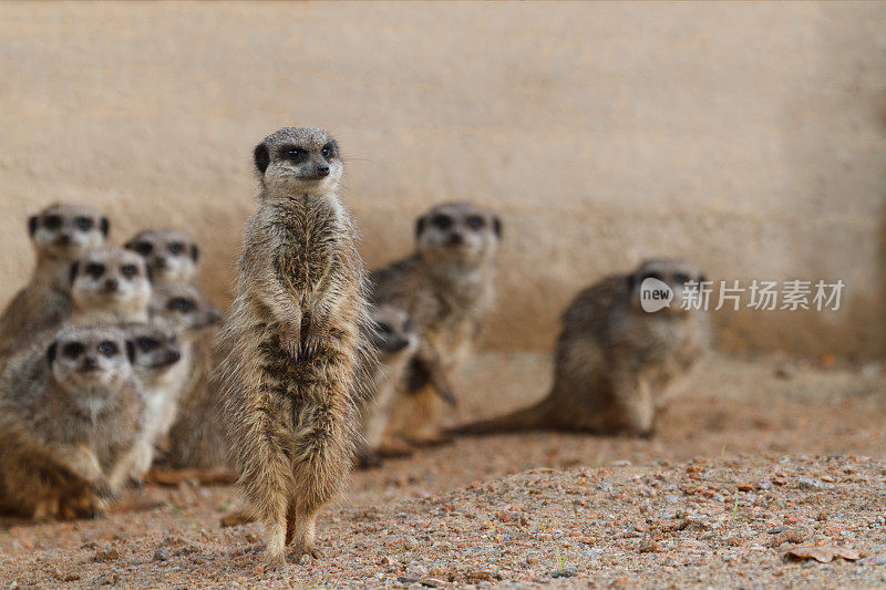
{"type": "Polygon", "coordinates": [[[502,221],[471,203],[451,203],[421,216],[415,222],[415,237],[425,259],[480,266],[495,256],[502,221]]]}

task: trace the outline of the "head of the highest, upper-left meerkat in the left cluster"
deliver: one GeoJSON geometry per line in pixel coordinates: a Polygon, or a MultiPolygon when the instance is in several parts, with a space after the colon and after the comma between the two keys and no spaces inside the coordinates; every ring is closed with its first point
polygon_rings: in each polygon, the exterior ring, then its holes
{"type": "Polygon", "coordinates": [[[81,205],[50,205],[28,218],[28,232],[39,256],[74,260],[87,248],[104,246],[107,218],[81,205]]]}

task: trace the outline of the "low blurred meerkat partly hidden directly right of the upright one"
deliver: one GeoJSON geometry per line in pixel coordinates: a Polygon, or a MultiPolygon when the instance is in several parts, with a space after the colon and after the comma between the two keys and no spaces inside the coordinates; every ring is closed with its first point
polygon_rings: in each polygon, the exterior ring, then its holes
{"type": "MultiPolygon", "coordinates": [[[[365,444],[360,451],[360,466],[381,464],[382,439],[390,421],[396,387],[412,356],[419,349],[419,335],[409,313],[392,306],[371,311],[369,341],[379,351],[379,362],[367,374],[375,391],[374,400],[361,404],[360,415],[365,444]]],[[[437,363],[439,366],[439,363],[437,363]]]]}

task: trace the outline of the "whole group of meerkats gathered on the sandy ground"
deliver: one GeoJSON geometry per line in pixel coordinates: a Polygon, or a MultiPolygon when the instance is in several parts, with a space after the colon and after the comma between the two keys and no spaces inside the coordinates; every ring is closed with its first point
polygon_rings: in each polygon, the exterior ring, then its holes
{"type": "Polygon", "coordinates": [[[679,304],[701,273],[648,260],[576,296],[547,397],[453,426],[452,377],[495,307],[502,219],[433,206],[414,251],[367,272],[331,135],[282,128],[253,162],[258,206],[224,323],[196,286],[200,249],[186,231],[146,229],[116,248],[89,207],[28,220],[37,265],[0,315],[0,509],[94,515],[152,466],[233,468],[246,503],[235,521],[264,522],[265,562],[278,568],[288,546],[296,562],[322,555],[318,513],[356,464],[462,434],[649,436],[709,348],[705,314],[679,304]],[[647,279],[676,303],[643,311],[647,279]]]}

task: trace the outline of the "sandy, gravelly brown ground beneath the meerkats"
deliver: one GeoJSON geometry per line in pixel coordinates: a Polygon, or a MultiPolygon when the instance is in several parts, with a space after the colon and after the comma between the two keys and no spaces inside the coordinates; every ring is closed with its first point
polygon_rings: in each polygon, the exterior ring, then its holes
{"type": "MultiPolygon", "coordinates": [[[[549,363],[486,354],[461,417],[540,395],[549,363]]],[[[656,437],[463,438],[354,475],[319,524],[328,557],[257,566],[222,528],[226,486],[147,487],[96,520],[2,521],[6,587],[869,587],[886,584],[886,387],[877,365],[715,359],[656,437]],[[152,506],[153,505],[153,506],[152,506]],[[857,561],[791,560],[851,548],[857,561]]]]}

